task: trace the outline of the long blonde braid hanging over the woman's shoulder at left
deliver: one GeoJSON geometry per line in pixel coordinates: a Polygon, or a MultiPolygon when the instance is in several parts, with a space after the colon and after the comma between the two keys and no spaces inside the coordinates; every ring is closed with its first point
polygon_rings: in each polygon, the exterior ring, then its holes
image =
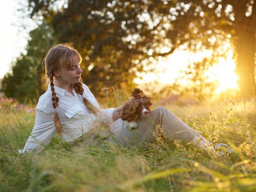
{"type": "MultiPolygon", "coordinates": [[[[54,90],[54,84],[53,84],[53,72],[49,74],[50,78],[50,85],[51,85],[51,90],[52,90],[52,105],[53,108],[56,109],[58,106],[59,98],[56,96],[55,90],[54,90]]],[[[54,117],[53,117],[54,125],[56,132],[59,136],[62,136],[61,132],[61,122],[58,116],[58,113],[56,110],[54,110],[54,117]]]]}

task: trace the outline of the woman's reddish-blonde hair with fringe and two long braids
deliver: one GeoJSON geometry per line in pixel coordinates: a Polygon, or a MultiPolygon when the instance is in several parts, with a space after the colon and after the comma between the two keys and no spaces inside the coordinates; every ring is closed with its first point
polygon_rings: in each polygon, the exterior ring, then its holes
{"type": "MultiPolygon", "coordinates": [[[[52,90],[52,104],[54,108],[54,124],[56,128],[56,132],[61,136],[61,122],[57,113],[58,106],[58,97],[56,96],[54,90],[54,71],[61,69],[62,67],[69,68],[73,65],[74,61],[81,63],[82,57],[78,53],[77,50],[73,48],[73,46],[69,44],[58,44],[52,47],[44,61],[42,61],[42,69],[45,70],[45,75],[42,76],[42,80],[45,83],[49,83],[52,90]]],[[[83,95],[83,87],[82,82],[72,83],[72,86],[76,93],[83,95]]],[[[88,110],[94,113],[95,115],[99,112],[99,110],[94,106],[87,98],[83,96],[83,102],[87,106],[88,110]]]]}

